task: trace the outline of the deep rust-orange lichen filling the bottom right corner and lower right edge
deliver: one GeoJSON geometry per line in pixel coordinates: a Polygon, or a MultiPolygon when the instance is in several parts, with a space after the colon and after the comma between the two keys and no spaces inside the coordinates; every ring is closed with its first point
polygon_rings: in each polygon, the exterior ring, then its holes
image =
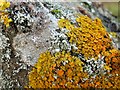
{"type": "Polygon", "coordinates": [[[86,83],[88,83],[87,88],[120,88],[120,51],[112,48],[104,55],[107,64],[105,68],[111,70],[111,72],[107,72],[99,77],[97,76],[94,79],[89,78],[88,81],[81,83],[82,87],[86,87],[86,83]]]}

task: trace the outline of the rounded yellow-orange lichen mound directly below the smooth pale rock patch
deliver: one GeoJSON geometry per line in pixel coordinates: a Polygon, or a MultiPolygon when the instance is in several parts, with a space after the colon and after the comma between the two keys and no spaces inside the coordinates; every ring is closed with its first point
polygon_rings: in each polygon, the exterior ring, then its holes
{"type": "Polygon", "coordinates": [[[52,55],[45,52],[40,55],[35,68],[29,74],[31,88],[74,88],[79,87],[83,73],[83,62],[70,53],[58,52],[52,55]]]}

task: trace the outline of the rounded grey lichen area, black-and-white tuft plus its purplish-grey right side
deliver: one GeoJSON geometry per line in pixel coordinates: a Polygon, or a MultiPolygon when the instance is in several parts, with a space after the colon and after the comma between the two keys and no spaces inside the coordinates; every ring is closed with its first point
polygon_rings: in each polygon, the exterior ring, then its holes
{"type": "Polygon", "coordinates": [[[47,13],[40,2],[16,2],[11,7],[11,14],[19,32],[41,30],[47,23],[47,13]]]}

